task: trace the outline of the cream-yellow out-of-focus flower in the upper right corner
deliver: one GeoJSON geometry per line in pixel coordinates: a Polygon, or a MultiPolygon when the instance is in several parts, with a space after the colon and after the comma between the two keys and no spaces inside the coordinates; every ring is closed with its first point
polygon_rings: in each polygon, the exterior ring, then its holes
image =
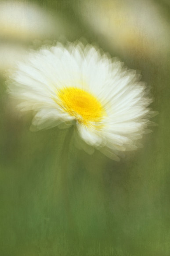
{"type": "Polygon", "coordinates": [[[75,10],[119,53],[155,58],[169,47],[170,26],[152,0],[81,0],[75,10]]]}

